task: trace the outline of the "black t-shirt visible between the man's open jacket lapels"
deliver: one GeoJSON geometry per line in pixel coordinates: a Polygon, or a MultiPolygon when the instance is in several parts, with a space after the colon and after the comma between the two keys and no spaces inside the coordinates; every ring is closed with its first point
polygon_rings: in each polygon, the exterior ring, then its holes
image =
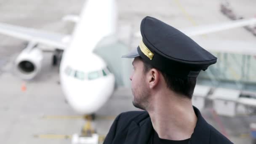
{"type": "Polygon", "coordinates": [[[189,139],[181,141],[173,141],[169,139],[160,139],[155,130],[152,131],[152,135],[149,141],[149,144],[188,144],[189,139]]]}

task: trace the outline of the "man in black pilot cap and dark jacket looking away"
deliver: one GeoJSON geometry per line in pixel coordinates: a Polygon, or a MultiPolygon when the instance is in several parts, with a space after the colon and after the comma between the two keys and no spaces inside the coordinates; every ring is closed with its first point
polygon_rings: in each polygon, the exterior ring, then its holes
{"type": "Polygon", "coordinates": [[[123,112],[104,144],[232,144],[200,111],[192,95],[201,70],[217,58],[178,29],[153,17],[141,21],[142,40],[123,58],[134,58],[133,105],[123,112]]]}

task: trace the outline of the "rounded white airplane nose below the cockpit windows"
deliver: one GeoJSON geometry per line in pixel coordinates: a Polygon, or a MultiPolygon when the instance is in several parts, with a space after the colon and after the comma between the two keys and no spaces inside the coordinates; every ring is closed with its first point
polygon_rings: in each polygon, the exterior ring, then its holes
{"type": "Polygon", "coordinates": [[[68,80],[62,88],[69,105],[80,114],[96,112],[111,96],[115,78],[93,81],[68,80]]]}

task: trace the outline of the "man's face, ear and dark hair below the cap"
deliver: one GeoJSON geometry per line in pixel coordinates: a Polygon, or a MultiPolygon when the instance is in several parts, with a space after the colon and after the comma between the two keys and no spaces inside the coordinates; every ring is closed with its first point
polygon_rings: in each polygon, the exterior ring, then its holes
{"type": "Polygon", "coordinates": [[[150,104],[152,92],[169,90],[180,98],[191,99],[194,92],[196,77],[176,77],[161,72],[152,65],[147,64],[141,57],[133,60],[133,72],[131,74],[131,86],[133,93],[133,105],[140,109],[147,109],[150,104]]]}

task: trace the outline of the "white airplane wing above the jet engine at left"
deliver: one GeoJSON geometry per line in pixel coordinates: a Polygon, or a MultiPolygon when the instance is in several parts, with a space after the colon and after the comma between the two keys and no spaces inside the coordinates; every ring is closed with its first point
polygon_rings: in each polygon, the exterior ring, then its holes
{"type": "Polygon", "coordinates": [[[59,49],[66,48],[70,41],[70,35],[61,35],[3,23],[0,23],[0,33],[35,43],[51,45],[59,49]]]}

